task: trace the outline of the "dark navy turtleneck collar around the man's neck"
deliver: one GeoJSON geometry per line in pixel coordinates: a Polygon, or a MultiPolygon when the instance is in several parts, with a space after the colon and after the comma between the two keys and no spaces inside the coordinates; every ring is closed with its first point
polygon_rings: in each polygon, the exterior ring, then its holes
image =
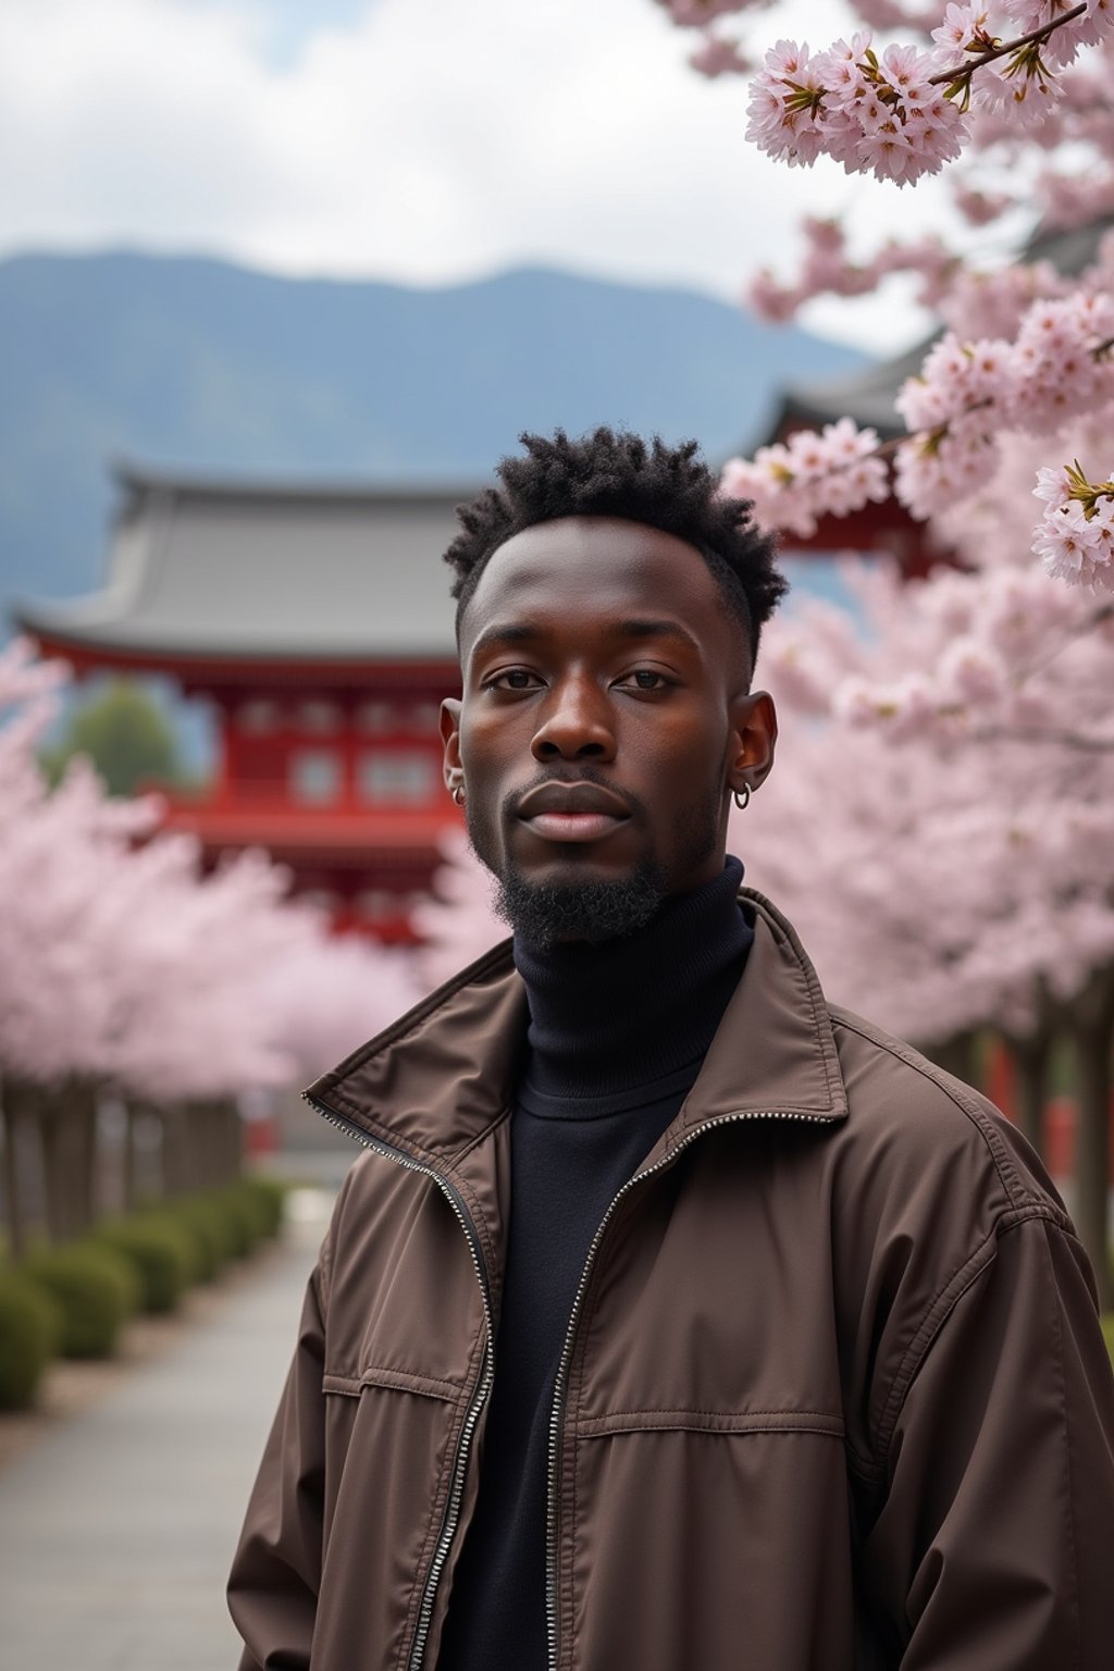
{"type": "Polygon", "coordinates": [[[738,906],[743,867],[666,899],[636,934],[546,946],[514,939],[529,998],[526,1071],[544,1096],[600,1098],[698,1063],[753,939],[738,906]]]}

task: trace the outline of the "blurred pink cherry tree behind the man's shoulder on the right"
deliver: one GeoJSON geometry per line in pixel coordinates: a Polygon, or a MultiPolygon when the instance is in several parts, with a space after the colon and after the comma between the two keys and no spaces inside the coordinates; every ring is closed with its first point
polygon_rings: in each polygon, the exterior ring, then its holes
{"type": "MultiPolygon", "coordinates": [[[[1009,480],[980,508],[982,555],[1015,556],[1009,480]]],[[[740,851],[830,996],[925,1046],[1000,1033],[1037,1141],[1049,1043],[1071,1036],[1076,1213],[1109,1303],[1114,608],[1015,560],[847,578],[865,630],[820,603],[767,628],[787,745],[740,851]]]]}

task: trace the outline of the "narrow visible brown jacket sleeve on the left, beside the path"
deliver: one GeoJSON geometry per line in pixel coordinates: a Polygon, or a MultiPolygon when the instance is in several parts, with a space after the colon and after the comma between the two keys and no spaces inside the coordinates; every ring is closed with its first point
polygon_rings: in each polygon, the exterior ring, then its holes
{"type": "Polygon", "coordinates": [[[321,1267],[306,1290],[294,1362],[252,1489],[229,1577],[244,1638],[239,1671],[307,1671],[324,1526],[321,1267]]]}

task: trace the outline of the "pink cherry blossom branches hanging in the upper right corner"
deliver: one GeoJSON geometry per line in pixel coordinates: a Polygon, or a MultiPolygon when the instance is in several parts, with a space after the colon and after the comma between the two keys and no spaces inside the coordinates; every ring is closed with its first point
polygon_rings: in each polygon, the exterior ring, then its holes
{"type": "MultiPolygon", "coordinates": [[[[1076,226],[1114,209],[1114,122],[1106,89],[1114,58],[1111,0],[995,0],[897,5],[855,0],[870,27],[818,52],[778,40],[760,67],[732,13],[757,0],[660,0],[701,30],[705,74],[750,74],[748,137],[772,159],[820,155],[882,189],[955,167],[955,202],[975,226],[1037,201],[1046,226],[1076,226]],[[899,30],[914,40],[875,40],[899,30]]],[[[768,10],[768,7],[763,7],[768,10]]],[[[850,419],[733,460],[725,491],[750,498],[770,528],[810,533],[822,513],[847,515],[890,493],[929,521],[979,490],[1017,434],[1042,441],[1030,490],[1041,510],[1029,546],[1047,571],[1091,592],[1114,590],[1114,460],[1099,443],[1071,455],[1067,419],[1114,406],[1114,246],[1064,279],[1049,262],[984,267],[937,239],[847,259],[843,229],[805,226],[800,277],[757,281],[752,302],[787,319],[825,291],[872,291],[890,272],[919,272],[944,338],[899,398],[909,436],[884,446],[850,419]]]]}

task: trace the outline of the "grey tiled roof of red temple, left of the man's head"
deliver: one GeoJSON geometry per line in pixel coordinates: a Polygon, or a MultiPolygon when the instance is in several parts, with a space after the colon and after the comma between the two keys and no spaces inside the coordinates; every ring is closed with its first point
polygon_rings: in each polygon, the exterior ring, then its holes
{"type": "Polygon", "coordinates": [[[104,590],[17,623],[89,650],[251,658],[451,658],[459,488],[239,483],[115,468],[104,590]]]}

